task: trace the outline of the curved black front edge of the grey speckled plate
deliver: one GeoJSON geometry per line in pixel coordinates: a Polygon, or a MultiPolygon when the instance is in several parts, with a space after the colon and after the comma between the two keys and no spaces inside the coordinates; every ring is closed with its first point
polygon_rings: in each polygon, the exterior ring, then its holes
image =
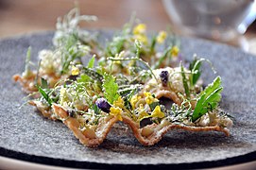
{"type": "Polygon", "coordinates": [[[93,169],[154,169],[154,168],[179,168],[179,169],[195,169],[195,168],[216,168],[221,166],[237,165],[250,161],[256,161],[256,151],[249,152],[231,158],[216,161],[194,161],[189,163],[138,163],[138,164],[121,164],[121,163],[104,163],[94,161],[74,161],[59,158],[50,158],[38,155],[30,155],[19,151],[3,148],[0,146],[0,156],[19,161],[28,161],[45,165],[54,165],[69,168],[93,168],[93,169]],[[4,154],[3,154],[4,153],[4,154]]]}

